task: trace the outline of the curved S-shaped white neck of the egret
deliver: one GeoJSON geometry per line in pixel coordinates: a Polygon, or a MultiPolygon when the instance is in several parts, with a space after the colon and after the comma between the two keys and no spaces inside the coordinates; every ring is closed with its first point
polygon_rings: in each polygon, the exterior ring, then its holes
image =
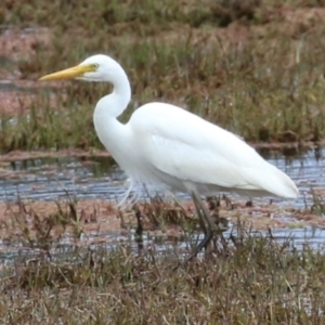
{"type": "Polygon", "coordinates": [[[100,141],[121,165],[123,153],[128,150],[128,128],[118,121],[117,117],[122,114],[131,100],[131,87],[121,67],[115,72],[114,77],[115,80],[109,80],[114,90],[98,102],[93,122],[100,141]],[[121,143],[125,143],[125,146],[121,143]]]}

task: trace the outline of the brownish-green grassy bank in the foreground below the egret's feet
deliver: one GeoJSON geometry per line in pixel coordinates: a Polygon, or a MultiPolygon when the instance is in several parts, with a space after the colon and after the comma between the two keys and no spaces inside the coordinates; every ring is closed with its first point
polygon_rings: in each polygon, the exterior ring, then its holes
{"type": "Polygon", "coordinates": [[[324,324],[324,256],[240,233],[204,258],[75,247],[1,270],[1,324],[324,324]]]}

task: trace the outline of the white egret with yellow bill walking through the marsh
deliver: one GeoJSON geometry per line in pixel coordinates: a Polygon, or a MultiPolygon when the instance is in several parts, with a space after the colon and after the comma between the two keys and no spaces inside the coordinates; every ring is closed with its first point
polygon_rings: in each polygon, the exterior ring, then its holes
{"type": "Polygon", "coordinates": [[[294,181],[242,138],[185,108],[152,102],[134,109],[127,123],[120,122],[117,118],[131,101],[131,86],[112,56],[95,54],[39,80],[63,79],[113,84],[113,91],[95,105],[95,132],[132,182],[191,195],[205,232],[196,252],[207,247],[216,232],[202,196],[220,191],[250,198],[299,196],[294,181]]]}

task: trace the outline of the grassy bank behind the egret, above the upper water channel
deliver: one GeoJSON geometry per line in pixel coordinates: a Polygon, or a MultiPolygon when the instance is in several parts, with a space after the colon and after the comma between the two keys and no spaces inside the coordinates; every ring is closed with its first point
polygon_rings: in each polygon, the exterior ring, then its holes
{"type": "MultiPolygon", "coordinates": [[[[48,28],[47,37],[32,31],[27,48],[17,44],[15,58],[6,52],[5,70],[23,80],[107,53],[125,66],[132,83],[123,120],[141,104],[164,101],[252,142],[324,139],[321,1],[5,3],[3,26],[48,28]]],[[[101,147],[92,110],[110,88],[52,84],[36,83],[31,103],[26,109],[22,100],[24,109],[16,109],[14,121],[3,109],[2,152],[101,147]]]]}

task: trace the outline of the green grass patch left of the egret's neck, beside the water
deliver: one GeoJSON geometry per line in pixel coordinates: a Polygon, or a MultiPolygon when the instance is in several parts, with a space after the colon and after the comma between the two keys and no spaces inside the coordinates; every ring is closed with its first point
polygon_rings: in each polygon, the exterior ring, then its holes
{"type": "MultiPolygon", "coordinates": [[[[57,94],[58,102],[60,98],[57,94]]],[[[22,109],[22,113],[15,116],[2,115],[0,132],[2,152],[15,148],[90,150],[98,146],[98,139],[94,132],[91,132],[92,116],[88,114],[90,107],[75,103],[69,109],[65,109],[62,104],[51,107],[49,103],[49,95],[42,93],[30,105],[28,113],[22,109]]]]}

